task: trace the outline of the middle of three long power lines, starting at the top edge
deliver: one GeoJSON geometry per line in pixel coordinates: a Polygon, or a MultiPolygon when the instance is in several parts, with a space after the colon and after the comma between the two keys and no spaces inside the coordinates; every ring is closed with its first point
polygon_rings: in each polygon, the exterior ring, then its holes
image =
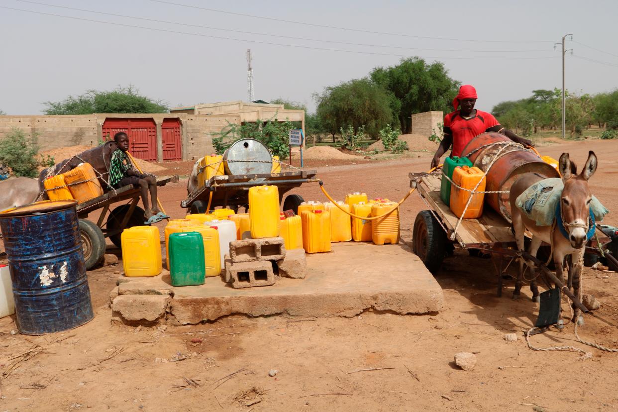
{"type": "Polygon", "coordinates": [[[17,1],[24,2],[24,3],[30,3],[30,4],[38,4],[40,6],[57,7],[59,9],[68,9],[68,10],[73,10],[73,11],[110,15],[113,17],[124,17],[126,19],[145,20],[147,22],[175,24],[175,25],[186,26],[186,27],[206,28],[209,30],[221,30],[224,32],[242,33],[242,34],[247,34],[247,35],[279,37],[279,38],[286,38],[286,39],[291,39],[291,40],[307,40],[307,41],[320,41],[323,43],[347,44],[349,46],[365,46],[365,47],[421,50],[421,51],[455,51],[455,52],[460,52],[460,53],[537,53],[537,52],[548,51],[544,49],[536,49],[536,50],[462,50],[462,49],[433,49],[433,48],[428,49],[428,48],[415,48],[415,47],[402,47],[402,46],[387,46],[383,44],[350,43],[347,41],[321,40],[321,39],[312,39],[312,38],[305,38],[305,37],[271,35],[267,33],[245,32],[243,30],[233,30],[230,28],[218,28],[218,27],[202,26],[202,25],[196,25],[196,24],[190,24],[190,23],[170,22],[169,20],[148,19],[147,17],[135,17],[135,16],[130,16],[130,15],[124,15],[124,14],[99,12],[99,11],[87,10],[87,9],[77,9],[75,7],[57,6],[56,4],[47,4],[47,3],[41,3],[41,2],[29,1],[29,0],[17,0],[17,1]]]}

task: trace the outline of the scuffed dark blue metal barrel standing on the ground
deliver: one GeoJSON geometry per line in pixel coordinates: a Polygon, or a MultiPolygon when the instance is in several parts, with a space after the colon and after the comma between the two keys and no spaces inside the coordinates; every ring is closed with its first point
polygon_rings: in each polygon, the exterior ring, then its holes
{"type": "Polygon", "coordinates": [[[42,201],[0,213],[17,327],[43,335],[93,317],[77,201],[42,201]]]}

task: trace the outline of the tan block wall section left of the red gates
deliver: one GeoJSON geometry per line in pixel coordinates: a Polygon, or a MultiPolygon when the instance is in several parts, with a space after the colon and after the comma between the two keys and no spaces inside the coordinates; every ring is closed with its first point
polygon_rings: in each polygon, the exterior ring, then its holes
{"type": "Polygon", "coordinates": [[[77,116],[0,116],[0,140],[12,128],[39,133],[41,151],[65,146],[98,145],[98,127],[93,114],[77,116]]]}

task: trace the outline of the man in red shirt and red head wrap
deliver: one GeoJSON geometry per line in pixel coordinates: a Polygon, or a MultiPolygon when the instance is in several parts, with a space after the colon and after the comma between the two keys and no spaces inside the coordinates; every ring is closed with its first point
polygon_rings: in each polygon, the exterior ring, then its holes
{"type": "Polygon", "coordinates": [[[453,99],[455,111],[444,116],[444,137],[433,156],[431,167],[437,167],[440,164],[440,158],[451,145],[453,146],[451,157],[461,156],[465,145],[485,132],[502,133],[516,143],[532,146],[530,140],[519,137],[502,127],[491,113],[475,109],[476,99],[476,89],[473,86],[464,85],[459,88],[459,94],[453,99]],[[457,110],[457,107],[460,109],[457,110]]]}

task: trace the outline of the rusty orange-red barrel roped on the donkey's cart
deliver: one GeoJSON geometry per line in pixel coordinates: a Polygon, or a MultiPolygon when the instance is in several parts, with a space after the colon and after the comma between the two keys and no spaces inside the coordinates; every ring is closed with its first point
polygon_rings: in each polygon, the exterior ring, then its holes
{"type": "MultiPolygon", "coordinates": [[[[520,175],[537,173],[543,177],[560,177],[556,169],[543,161],[535,153],[524,150],[521,146],[491,145],[491,143],[511,141],[505,135],[497,132],[481,133],[468,143],[461,156],[465,156],[474,166],[485,172],[491,162],[494,162],[487,174],[486,191],[510,190],[520,175]],[[502,151],[501,151],[502,150],[502,151]]],[[[485,199],[492,209],[511,221],[509,193],[486,193],[485,199]]]]}

